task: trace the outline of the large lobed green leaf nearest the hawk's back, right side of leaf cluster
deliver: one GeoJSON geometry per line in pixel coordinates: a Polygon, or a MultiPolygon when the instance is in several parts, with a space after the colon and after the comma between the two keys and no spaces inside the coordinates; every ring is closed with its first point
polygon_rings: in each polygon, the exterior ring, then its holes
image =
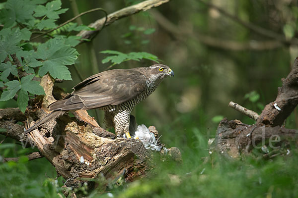
{"type": "Polygon", "coordinates": [[[65,65],[74,64],[77,55],[76,49],[65,45],[61,37],[51,39],[38,46],[35,58],[44,60],[38,74],[43,76],[49,72],[53,78],[72,80],[71,73],[65,65]]]}

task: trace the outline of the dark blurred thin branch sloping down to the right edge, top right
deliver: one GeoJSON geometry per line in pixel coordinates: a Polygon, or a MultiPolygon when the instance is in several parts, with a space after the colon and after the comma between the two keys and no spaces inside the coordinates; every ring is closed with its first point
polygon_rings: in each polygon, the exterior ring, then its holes
{"type": "Polygon", "coordinates": [[[219,12],[221,12],[222,14],[224,14],[225,16],[227,16],[228,18],[232,19],[233,21],[235,21],[235,22],[243,25],[246,28],[251,29],[252,31],[254,31],[254,32],[256,32],[256,33],[258,33],[260,35],[273,38],[273,39],[275,39],[277,41],[283,42],[283,43],[288,44],[288,45],[298,45],[298,39],[296,39],[296,38],[293,38],[292,40],[287,40],[284,35],[278,34],[278,33],[273,32],[271,30],[267,30],[267,29],[265,29],[263,27],[260,27],[260,26],[255,25],[253,23],[242,21],[237,16],[232,15],[232,14],[226,12],[224,9],[222,9],[222,8],[220,8],[220,7],[212,4],[212,3],[205,2],[204,0],[199,0],[199,1],[202,2],[202,3],[204,3],[205,5],[207,5],[209,7],[212,7],[214,9],[218,10],[219,12]]]}

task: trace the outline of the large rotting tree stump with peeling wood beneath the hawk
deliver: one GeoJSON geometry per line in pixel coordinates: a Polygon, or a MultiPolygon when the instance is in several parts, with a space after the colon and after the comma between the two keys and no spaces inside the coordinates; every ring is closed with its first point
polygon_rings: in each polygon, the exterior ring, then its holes
{"type": "MultiPolygon", "coordinates": [[[[55,166],[58,175],[67,180],[67,186],[76,186],[86,181],[91,185],[89,180],[98,176],[105,177],[107,181],[113,181],[119,176],[124,177],[125,181],[133,181],[146,175],[151,168],[152,151],[146,149],[140,140],[116,139],[115,134],[101,128],[85,110],[74,112],[79,119],[63,115],[24,136],[24,126],[15,122],[21,121],[27,128],[32,126],[34,120],[49,113],[47,107],[55,101],[52,96],[54,80],[45,75],[40,85],[46,95],[34,100],[39,104],[26,110],[27,118],[17,108],[0,109],[0,128],[6,129],[0,131],[0,134],[20,141],[24,147],[37,147],[39,155],[47,158],[55,166]]],[[[158,138],[156,129],[149,129],[158,138]]],[[[177,148],[162,150],[160,154],[181,160],[177,148]]],[[[28,157],[34,159],[39,155],[35,153],[28,157]]]]}

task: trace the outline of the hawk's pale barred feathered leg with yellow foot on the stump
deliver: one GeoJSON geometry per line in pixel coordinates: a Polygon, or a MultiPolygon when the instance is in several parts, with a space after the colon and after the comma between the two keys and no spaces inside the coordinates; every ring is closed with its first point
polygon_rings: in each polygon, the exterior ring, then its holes
{"type": "Polygon", "coordinates": [[[117,135],[125,133],[127,138],[131,138],[131,135],[129,133],[129,120],[129,110],[120,111],[114,116],[113,122],[115,126],[115,133],[117,135]]]}

